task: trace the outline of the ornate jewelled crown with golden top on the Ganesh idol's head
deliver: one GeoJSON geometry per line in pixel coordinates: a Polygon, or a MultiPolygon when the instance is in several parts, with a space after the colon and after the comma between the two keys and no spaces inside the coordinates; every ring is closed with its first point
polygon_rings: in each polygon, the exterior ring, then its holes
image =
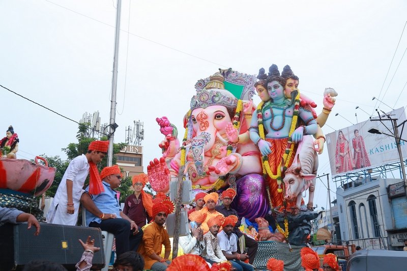
{"type": "Polygon", "coordinates": [[[209,82],[191,99],[191,110],[196,108],[207,108],[212,105],[223,105],[226,108],[236,108],[238,99],[224,86],[224,77],[220,73],[215,73],[210,77],[209,82]]]}

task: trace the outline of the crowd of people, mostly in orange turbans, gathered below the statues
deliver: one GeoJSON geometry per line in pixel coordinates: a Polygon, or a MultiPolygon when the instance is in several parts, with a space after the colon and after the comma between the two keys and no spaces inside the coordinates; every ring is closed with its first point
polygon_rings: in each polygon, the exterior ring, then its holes
{"type": "MultiPolygon", "coordinates": [[[[134,193],[127,197],[122,210],[118,193],[114,190],[120,186],[122,180],[119,166],[105,167],[100,173],[96,167],[106,155],[107,147],[108,141],[93,141],[88,153],[71,161],[48,211],[48,223],[76,225],[81,204],[86,212],[86,226],[114,234],[117,259],[113,270],[180,270],[175,266],[189,264],[188,260],[182,260],[185,257],[193,257],[194,261],[205,263],[208,270],[254,270],[252,263],[258,243],[255,238],[240,230],[241,220],[237,211],[230,206],[236,196],[234,189],[228,188],[221,193],[221,205],[218,205],[219,194],[216,192],[196,194],[196,207],[188,213],[189,234],[181,236],[179,240],[184,256],[171,263],[171,243],[165,222],[175,209],[173,202],[162,193],[158,193],[153,199],[144,192],[143,187],[148,182],[148,177],[140,174],[132,178],[134,193]],[[90,185],[83,191],[88,174],[90,185]]],[[[33,215],[13,208],[0,208],[0,223],[7,222],[27,222],[28,229],[34,226],[35,235],[40,234],[40,223],[33,215]]],[[[93,255],[100,248],[94,246],[91,236],[88,236],[86,242],[79,242],[84,252],[76,265],[77,270],[90,270],[93,255]]],[[[311,253],[310,251],[308,252],[311,253]]],[[[303,260],[303,264],[306,263],[303,260]]],[[[280,265],[278,260],[271,259],[268,266],[270,270],[278,270],[279,267],[276,266],[280,265]]],[[[59,264],[38,260],[27,264],[24,270],[46,270],[48,267],[49,270],[64,270],[59,264]]],[[[332,268],[337,270],[335,266],[332,268]]]]}

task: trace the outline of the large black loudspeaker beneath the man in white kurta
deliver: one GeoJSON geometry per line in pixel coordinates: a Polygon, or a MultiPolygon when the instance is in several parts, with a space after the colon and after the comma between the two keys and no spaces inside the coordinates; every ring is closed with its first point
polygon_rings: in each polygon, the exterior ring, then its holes
{"type": "Polygon", "coordinates": [[[35,236],[35,227],[27,229],[27,223],[0,227],[0,270],[21,270],[32,260],[60,263],[68,270],[76,270],[83,247],[78,239],[86,242],[88,236],[95,239],[96,252],[92,263],[95,267],[105,265],[102,234],[99,228],[41,224],[40,235],[35,236]]]}

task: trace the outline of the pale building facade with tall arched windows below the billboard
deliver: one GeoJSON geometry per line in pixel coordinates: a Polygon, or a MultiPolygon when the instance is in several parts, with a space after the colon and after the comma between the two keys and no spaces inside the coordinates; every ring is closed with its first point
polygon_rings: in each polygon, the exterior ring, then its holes
{"type": "Polygon", "coordinates": [[[404,186],[402,193],[393,196],[390,193],[392,187],[402,182],[368,177],[338,188],[341,239],[363,249],[402,250],[400,239],[403,234],[407,238],[407,209],[402,209],[403,203],[407,206],[404,186]]]}

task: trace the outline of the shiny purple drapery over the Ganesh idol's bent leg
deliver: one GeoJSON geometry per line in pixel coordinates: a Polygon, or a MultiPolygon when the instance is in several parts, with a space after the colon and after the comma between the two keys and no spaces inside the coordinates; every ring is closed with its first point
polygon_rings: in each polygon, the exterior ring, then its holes
{"type": "Polygon", "coordinates": [[[255,218],[265,217],[269,207],[266,197],[265,180],[259,174],[248,174],[236,181],[237,196],[232,202],[239,217],[251,222],[255,218]]]}

